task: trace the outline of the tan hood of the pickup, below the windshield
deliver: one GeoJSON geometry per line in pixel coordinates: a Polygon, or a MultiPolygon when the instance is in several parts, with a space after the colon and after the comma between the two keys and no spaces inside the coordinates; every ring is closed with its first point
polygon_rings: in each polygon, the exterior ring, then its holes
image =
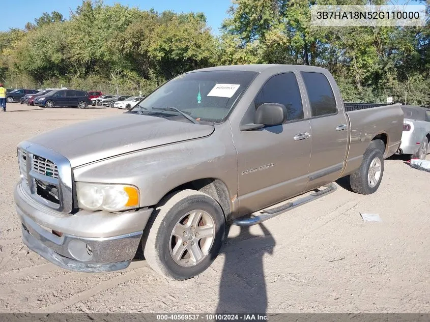
{"type": "Polygon", "coordinates": [[[210,125],[168,121],[149,115],[119,114],[69,125],[27,141],[60,153],[72,167],[158,145],[210,135],[210,125]]]}

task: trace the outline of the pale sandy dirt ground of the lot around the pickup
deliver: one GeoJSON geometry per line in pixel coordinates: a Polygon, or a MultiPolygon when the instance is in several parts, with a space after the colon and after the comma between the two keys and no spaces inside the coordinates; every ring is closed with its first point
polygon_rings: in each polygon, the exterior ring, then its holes
{"type": "Polygon", "coordinates": [[[17,143],[120,112],[17,103],[0,112],[0,312],[430,313],[430,173],[398,156],[386,160],[375,194],[339,180],[335,193],[264,226],[232,227],[213,265],[187,281],[167,281],[138,259],[124,271],[75,273],[29,251],[12,195],[17,143]]]}

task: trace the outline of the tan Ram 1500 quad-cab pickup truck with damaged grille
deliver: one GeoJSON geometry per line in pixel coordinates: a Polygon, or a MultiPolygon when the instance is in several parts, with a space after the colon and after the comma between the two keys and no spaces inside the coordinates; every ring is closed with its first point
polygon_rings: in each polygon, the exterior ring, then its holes
{"type": "Polygon", "coordinates": [[[19,143],[23,242],[81,272],[124,269],[141,244],[155,271],[187,279],[230,224],[284,214],[347,175],[374,193],[402,130],[398,105],[345,112],[322,68],[187,72],[126,113],[19,143]]]}

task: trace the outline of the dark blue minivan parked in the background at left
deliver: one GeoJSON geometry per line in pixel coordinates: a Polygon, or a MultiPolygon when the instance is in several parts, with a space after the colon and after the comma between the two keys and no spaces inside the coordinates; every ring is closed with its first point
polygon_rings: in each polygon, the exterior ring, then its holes
{"type": "Polygon", "coordinates": [[[71,106],[85,108],[91,104],[88,93],[75,90],[54,90],[37,97],[34,105],[43,107],[71,106]]]}

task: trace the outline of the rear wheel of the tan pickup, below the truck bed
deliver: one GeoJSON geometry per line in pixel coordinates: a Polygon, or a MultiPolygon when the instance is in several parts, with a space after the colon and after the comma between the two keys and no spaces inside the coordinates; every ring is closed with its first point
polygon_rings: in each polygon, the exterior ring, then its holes
{"type": "Polygon", "coordinates": [[[381,184],[383,174],[384,157],[381,151],[377,148],[367,148],[360,168],[350,175],[352,191],[360,194],[374,193],[381,184]]]}

